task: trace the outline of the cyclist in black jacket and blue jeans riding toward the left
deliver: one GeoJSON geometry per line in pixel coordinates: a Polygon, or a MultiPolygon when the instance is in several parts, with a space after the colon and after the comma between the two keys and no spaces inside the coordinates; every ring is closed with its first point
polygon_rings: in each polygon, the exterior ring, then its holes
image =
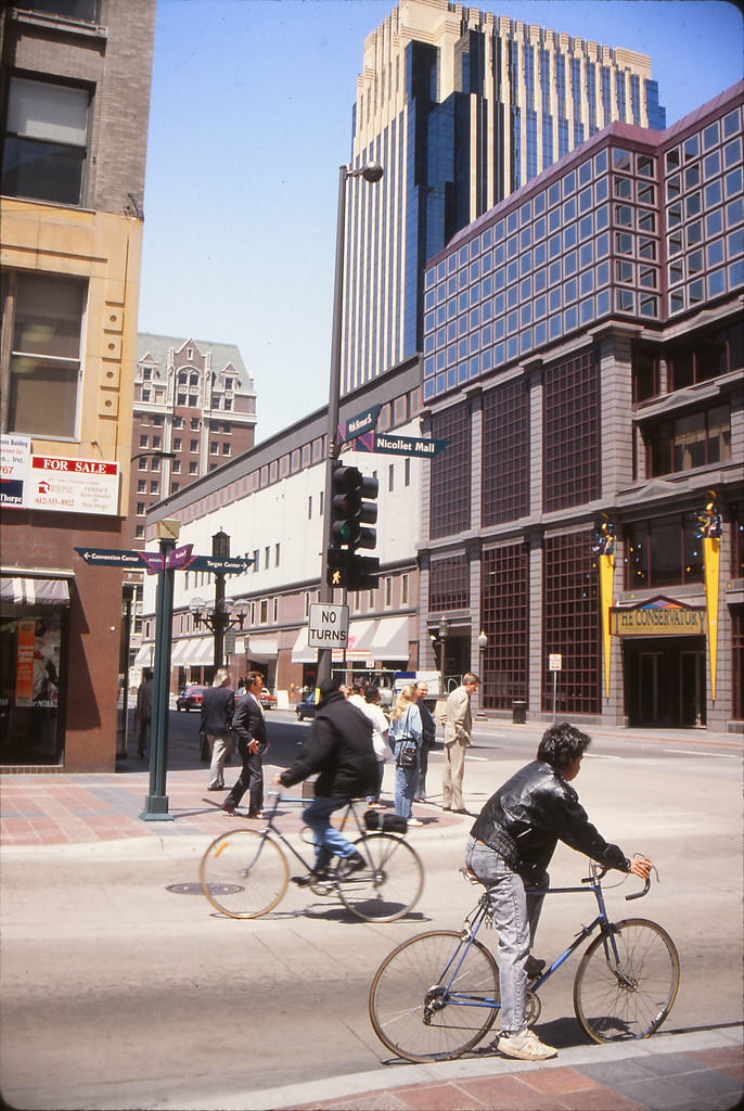
{"type": "Polygon", "coordinates": [[[361,853],[331,824],[331,814],[350,799],[370,794],[378,781],[370,719],[346,701],[335,680],[324,680],[319,693],[315,717],[298,759],[275,779],[282,787],[292,787],[319,773],[315,798],[302,815],[313,831],[315,867],[298,883],[326,878],[334,855],[343,859],[345,874],[364,867],[361,853]]]}

